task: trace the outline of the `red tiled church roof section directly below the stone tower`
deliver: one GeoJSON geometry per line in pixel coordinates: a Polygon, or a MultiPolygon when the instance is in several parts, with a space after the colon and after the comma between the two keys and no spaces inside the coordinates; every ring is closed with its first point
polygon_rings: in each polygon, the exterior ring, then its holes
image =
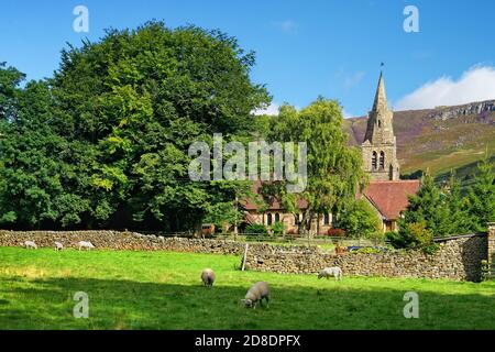
{"type": "Polygon", "coordinates": [[[372,180],[364,190],[364,197],[387,220],[396,220],[409,204],[408,196],[419,190],[419,179],[372,180]]]}

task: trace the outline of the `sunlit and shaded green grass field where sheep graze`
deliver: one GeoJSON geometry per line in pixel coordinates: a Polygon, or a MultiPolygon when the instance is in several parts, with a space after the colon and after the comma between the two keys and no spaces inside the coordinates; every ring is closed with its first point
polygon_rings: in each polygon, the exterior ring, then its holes
{"type": "Polygon", "coordinates": [[[345,277],[241,272],[240,258],[169,252],[54,252],[0,248],[0,329],[495,329],[495,282],[345,277]],[[217,272],[201,286],[204,267],[217,272]],[[270,308],[240,299],[257,280],[270,308]],[[419,319],[403,316],[406,292],[419,319]],[[89,318],[73,317],[76,292],[89,318]]]}

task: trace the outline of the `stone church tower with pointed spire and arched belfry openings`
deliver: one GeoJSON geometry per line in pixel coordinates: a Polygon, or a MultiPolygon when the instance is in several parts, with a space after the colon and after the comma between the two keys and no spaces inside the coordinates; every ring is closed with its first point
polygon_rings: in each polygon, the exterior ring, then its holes
{"type": "Polygon", "coordinates": [[[364,170],[371,180],[399,179],[396,140],[392,127],[393,112],[388,110],[383,73],[380,73],[373,109],[369,113],[366,134],[361,144],[364,170]]]}

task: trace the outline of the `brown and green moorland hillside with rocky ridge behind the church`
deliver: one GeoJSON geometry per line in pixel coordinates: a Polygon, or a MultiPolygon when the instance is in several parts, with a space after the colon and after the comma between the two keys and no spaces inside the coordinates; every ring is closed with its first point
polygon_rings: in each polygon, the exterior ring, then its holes
{"type": "MultiPolygon", "coordinates": [[[[346,119],[350,143],[359,145],[366,118],[346,119]]],[[[441,178],[451,168],[469,176],[485,148],[495,155],[495,100],[394,112],[400,173],[429,169],[441,178]]],[[[495,157],[495,156],[494,156],[495,157]]]]}

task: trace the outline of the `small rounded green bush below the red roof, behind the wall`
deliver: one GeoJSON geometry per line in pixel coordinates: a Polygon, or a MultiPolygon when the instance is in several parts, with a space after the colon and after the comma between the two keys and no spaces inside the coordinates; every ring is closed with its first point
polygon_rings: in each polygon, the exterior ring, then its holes
{"type": "Polygon", "coordinates": [[[376,211],[364,200],[359,199],[344,207],[337,226],[344,229],[351,238],[376,239],[382,234],[382,221],[376,211]]]}

